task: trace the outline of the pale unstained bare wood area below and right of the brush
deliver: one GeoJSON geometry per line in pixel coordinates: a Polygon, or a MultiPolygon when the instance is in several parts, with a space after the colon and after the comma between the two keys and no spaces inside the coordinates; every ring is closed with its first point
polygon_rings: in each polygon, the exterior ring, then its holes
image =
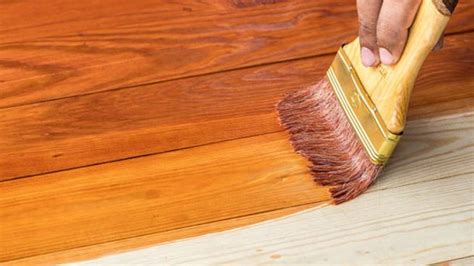
{"type": "Polygon", "coordinates": [[[474,113],[414,121],[406,133],[397,163],[353,201],[82,265],[428,264],[472,255],[474,113]]]}

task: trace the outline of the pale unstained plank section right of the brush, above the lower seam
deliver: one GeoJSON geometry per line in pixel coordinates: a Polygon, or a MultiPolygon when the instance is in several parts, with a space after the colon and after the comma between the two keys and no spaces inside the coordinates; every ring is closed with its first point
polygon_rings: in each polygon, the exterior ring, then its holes
{"type": "Polygon", "coordinates": [[[472,174],[472,136],[473,112],[411,121],[374,189],[472,174]]]}

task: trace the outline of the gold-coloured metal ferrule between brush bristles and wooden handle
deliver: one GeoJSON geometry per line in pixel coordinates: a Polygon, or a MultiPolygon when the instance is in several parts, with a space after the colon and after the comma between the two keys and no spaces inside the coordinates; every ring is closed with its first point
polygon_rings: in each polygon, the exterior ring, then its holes
{"type": "Polygon", "coordinates": [[[327,76],[370,160],[385,164],[401,135],[388,130],[342,47],[327,76]]]}

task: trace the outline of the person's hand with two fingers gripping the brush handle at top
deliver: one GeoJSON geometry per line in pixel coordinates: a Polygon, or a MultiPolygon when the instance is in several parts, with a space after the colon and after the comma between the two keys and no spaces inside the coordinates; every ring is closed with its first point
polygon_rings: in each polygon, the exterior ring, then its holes
{"type": "MultiPolygon", "coordinates": [[[[400,58],[421,0],[357,0],[362,64],[393,65],[400,58]]],[[[440,46],[441,42],[437,46],[440,46]]]]}

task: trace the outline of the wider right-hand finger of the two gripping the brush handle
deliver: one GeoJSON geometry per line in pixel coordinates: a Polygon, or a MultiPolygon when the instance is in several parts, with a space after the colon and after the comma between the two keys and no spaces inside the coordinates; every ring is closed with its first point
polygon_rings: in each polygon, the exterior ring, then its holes
{"type": "Polygon", "coordinates": [[[382,64],[400,58],[421,0],[384,0],[377,21],[377,45],[382,64]]]}

